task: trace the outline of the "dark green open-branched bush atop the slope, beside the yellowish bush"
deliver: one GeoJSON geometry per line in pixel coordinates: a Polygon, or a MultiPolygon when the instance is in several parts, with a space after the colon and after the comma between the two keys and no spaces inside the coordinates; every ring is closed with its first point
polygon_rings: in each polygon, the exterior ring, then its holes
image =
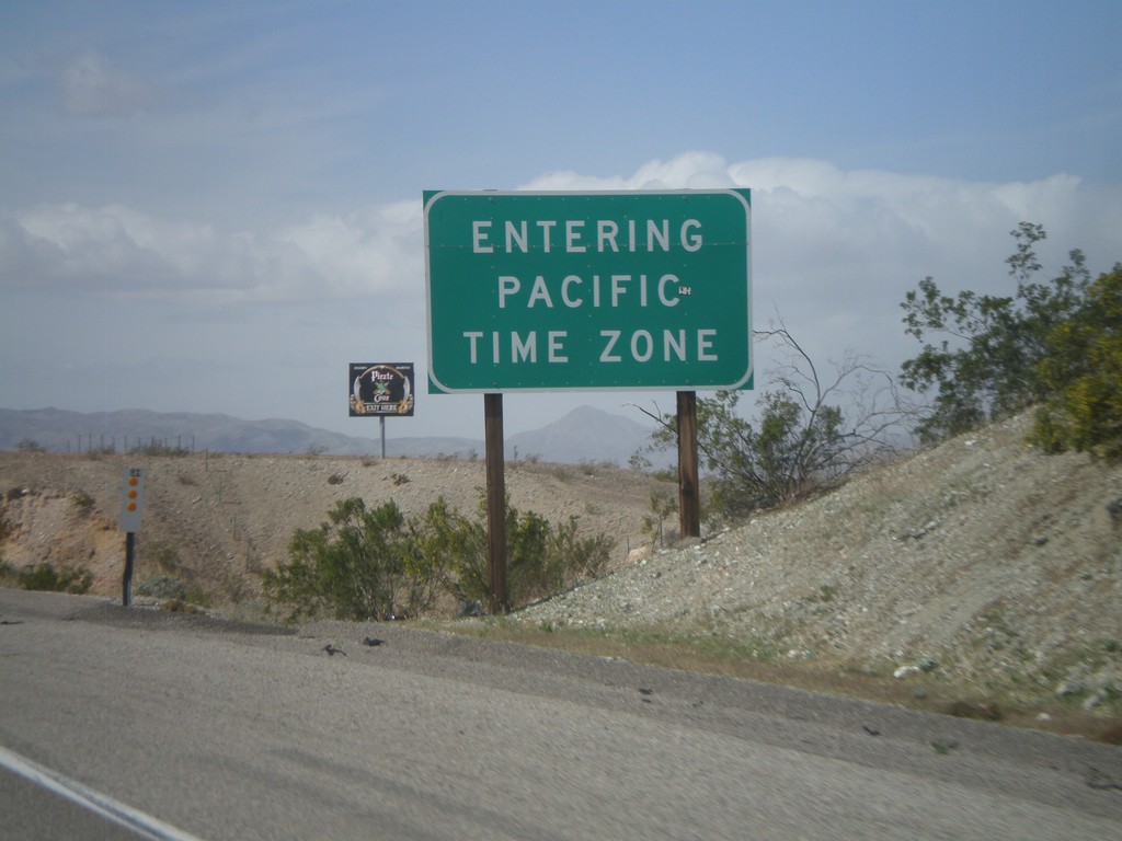
{"type": "Polygon", "coordinates": [[[1017,414],[1048,396],[1041,377],[1048,338],[1083,306],[1089,272],[1074,250],[1058,277],[1038,283],[1036,244],[1047,238],[1045,229],[1021,222],[1012,235],[1017,250],[1005,262],[1017,284],[1013,295],[965,290],[951,297],[928,277],[901,304],[908,334],[922,343],[919,355],[903,363],[901,383],[935,389],[934,405],[917,428],[926,442],[1017,414]]]}

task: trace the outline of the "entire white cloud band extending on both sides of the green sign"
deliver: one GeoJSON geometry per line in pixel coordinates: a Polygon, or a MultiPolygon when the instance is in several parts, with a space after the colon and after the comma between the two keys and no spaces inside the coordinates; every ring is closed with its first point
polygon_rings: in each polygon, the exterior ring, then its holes
{"type": "MultiPolygon", "coordinates": [[[[1122,188],[1087,188],[1063,174],[990,184],[687,153],[629,176],[555,172],[521,188],[730,186],[753,190],[757,324],[778,311],[822,354],[896,361],[907,348],[899,304],[927,275],[948,292],[1010,289],[1003,260],[1022,220],[1049,231],[1048,271],[1069,248],[1083,248],[1093,270],[1122,257],[1122,188]]],[[[423,305],[422,225],[420,201],[232,232],[121,205],[45,205],[0,215],[0,285],[224,306],[373,297],[412,317],[423,305]]]]}

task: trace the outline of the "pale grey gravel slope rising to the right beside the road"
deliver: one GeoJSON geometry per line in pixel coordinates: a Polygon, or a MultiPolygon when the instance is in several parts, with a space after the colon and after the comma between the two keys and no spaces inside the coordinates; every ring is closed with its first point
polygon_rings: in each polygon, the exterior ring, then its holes
{"type": "Polygon", "coordinates": [[[1122,465],[1045,456],[1021,417],[662,551],[516,613],[724,635],[763,656],[1122,692],[1122,465]]]}

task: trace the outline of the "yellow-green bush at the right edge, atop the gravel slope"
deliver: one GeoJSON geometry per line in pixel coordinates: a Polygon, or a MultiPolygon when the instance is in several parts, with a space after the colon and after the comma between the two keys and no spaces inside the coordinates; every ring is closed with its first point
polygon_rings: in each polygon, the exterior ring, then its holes
{"type": "Polygon", "coordinates": [[[1038,373],[1048,397],[1032,440],[1048,452],[1122,459],[1122,264],[1091,284],[1079,309],[1048,333],[1045,351],[1038,373]]]}

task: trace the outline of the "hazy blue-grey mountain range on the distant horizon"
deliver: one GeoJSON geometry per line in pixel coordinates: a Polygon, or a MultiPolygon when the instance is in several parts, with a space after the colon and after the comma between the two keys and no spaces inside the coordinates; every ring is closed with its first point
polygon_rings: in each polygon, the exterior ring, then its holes
{"type": "MultiPolygon", "coordinates": [[[[652,427],[622,415],[579,406],[560,419],[507,436],[507,459],[561,464],[626,465],[651,441],[652,427]]],[[[123,452],[150,444],[168,449],[239,453],[331,453],[377,455],[377,436],[358,437],[297,420],[246,420],[230,415],[146,409],[80,413],[57,408],[0,409],[0,450],[27,446],[48,451],[123,452]]],[[[387,458],[482,458],[482,440],[387,437],[387,458]]]]}

